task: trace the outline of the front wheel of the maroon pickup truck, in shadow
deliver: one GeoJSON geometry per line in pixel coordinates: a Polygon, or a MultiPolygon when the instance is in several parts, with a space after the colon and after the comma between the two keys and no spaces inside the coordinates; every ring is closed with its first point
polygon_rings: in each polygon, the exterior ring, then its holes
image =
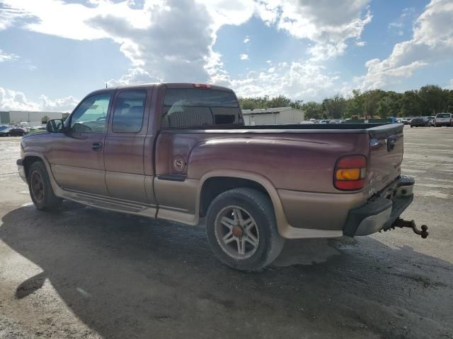
{"type": "Polygon", "coordinates": [[[56,210],[62,205],[63,199],[55,196],[43,162],[33,162],[27,179],[31,200],[38,210],[56,210]]]}

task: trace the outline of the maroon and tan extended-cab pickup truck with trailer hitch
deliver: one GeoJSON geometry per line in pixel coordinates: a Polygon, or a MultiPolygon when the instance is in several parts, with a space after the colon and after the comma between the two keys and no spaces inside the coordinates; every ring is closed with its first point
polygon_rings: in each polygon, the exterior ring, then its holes
{"type": "Polygon", "coordinates": [[[402,227],[402,160],[402,124],[245,126],[228,88],[156,83],[88,94],[24,136],[17,165],[38,210],[67,199],[204,224],[220,261],[260,270],[285,239],[402,227]]]}

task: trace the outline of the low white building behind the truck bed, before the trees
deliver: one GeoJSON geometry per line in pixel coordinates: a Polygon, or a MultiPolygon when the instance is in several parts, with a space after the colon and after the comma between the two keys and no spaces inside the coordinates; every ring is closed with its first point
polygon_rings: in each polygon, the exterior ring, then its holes
{"type": "Polygon", "coordinates": [[[243,109],[246,125],[300,124],[304,121],[305,112],[292,107],[265,109],[243,109]]]}

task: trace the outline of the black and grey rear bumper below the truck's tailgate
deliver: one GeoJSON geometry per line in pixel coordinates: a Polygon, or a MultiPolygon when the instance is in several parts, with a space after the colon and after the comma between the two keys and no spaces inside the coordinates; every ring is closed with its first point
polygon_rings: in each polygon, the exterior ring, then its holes
{"type": "Polygon", "coordinates": [[[413,201],[413,177],[401,176],[365,206],[350,210],[343,234],[349,237],[388,230],[413,201]]]}

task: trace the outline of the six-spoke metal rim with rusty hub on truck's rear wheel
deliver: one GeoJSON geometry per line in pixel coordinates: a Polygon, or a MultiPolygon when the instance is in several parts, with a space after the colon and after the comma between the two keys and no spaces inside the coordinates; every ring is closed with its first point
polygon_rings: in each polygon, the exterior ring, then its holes
{"type": "Polygon", "coordinates": [[[214,233],[222,251],[238,260],[253,256],[260,243],[256,221],[239,206],[226,206],[217,213],[214,233]]]}

